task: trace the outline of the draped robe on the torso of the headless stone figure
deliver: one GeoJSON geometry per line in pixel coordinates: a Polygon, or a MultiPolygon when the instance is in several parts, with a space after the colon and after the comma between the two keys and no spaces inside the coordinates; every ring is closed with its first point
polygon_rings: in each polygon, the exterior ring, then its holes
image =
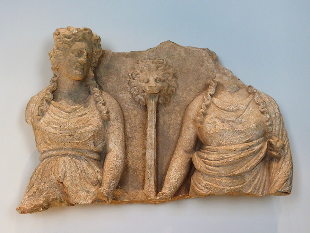
{"type": "Polygon", "coordinates": [[[190,196],[290,194],[292,156],[282,116],[271,97],[256,91],[233,104],[212,98],[198,137],[203,146],[192,158],[196,169],[190,196]],[[260,111],[262,101],[265,111],[260,111]]]}

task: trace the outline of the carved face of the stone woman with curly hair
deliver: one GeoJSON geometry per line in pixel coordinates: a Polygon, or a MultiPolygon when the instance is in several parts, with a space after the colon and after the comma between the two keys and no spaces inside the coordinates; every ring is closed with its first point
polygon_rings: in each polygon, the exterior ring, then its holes
{"type": "Polygon", "coordinates": [[[91,49],[84,42],[75,43],[66,54],[61,72],[73,80],[83,80],[91,64],[91,49]]]}

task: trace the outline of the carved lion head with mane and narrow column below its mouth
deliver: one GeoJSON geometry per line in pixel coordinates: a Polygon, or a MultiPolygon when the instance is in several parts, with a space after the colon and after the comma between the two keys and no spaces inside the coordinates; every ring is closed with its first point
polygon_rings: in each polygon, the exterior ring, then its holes
{"type": "Polygon", "coordinates": [[[138,61],[136,70],[129,74],[130,92],[136,101],[147,106],[147,131],[145,153],[144,194],[155,199],[156,175],[156,112],[157,102],[167,103],[176,89],[175,74],[168,64],[160,59],[138,61]]]}

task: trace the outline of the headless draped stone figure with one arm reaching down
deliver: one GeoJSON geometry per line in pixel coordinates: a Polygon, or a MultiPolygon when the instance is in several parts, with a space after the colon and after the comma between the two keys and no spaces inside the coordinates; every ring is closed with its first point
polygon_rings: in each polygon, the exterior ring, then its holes
{"type": "Polygon", "coordinates": [[[290,194],[292,156],[277,104],[231,71],[218,69],[207,90],[187,107],[157,199],[172,198],[191,164],[191,197],[290,194]]]}

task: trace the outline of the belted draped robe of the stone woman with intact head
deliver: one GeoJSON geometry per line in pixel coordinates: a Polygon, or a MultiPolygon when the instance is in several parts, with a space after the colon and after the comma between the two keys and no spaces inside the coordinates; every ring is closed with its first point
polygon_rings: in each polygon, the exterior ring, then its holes
{"type": "Polygon", "coordinates": [[[39,98],[31,99],[26,120],[33,126],[40,164],[18,208],[31,205],[34,212],[50,205],[91,203],[102,181],[106,144],[106,126],[93,97],[75,106],[52,100],[43,118],[35,121],[39,98]]]}

